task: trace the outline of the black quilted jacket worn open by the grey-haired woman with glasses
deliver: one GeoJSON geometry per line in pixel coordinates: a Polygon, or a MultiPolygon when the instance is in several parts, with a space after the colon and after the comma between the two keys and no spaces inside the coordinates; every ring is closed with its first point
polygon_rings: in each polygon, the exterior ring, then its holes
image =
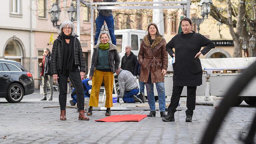
{"type": "MultiPolygon", "coordinates": [[[[77,38],[78,35],[73,37],[75,43],[75,64],[79,66],[80,72],[85,72],[85,62],[82,47],[80,44],[79,39],[77,38]]],[[[53,42],[52,46],[52,56],[51,56],[51,71],[53,74],[58,74],[58,71],[61,69],[61,62],[62,62],[62,45],[63,42],[61,40],[61,36],[59,35],[57,39],[53,42]]]]}

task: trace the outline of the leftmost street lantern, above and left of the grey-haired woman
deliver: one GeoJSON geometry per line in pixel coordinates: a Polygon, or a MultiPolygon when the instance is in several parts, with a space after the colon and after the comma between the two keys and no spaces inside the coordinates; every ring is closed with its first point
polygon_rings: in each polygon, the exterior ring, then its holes
{"type": "Polygon", "coordinates": [[[59,20],[59,17],[60,17],[60,8],[58,6],[58,3],[57,1],[52,4],[52,8],[50,9],[49,11],[49,14],[50,14],[50,17],[51,17],[51,21],[52,21],[52,24],[54,27],[56,27],[57,29],[59,29],[60,25],[57,25],[57,22],[59,20]]]}

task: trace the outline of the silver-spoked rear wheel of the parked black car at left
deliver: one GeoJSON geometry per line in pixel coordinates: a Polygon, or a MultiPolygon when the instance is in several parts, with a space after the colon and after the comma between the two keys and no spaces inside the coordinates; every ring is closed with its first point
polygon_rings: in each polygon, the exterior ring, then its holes
{"type": "Polygon", "coordinates": [[[18,83],[13,83],[9,86],[6,100],[10,103],[18,103],[22,100],[24,96],[24,90],[22,86],[18,83]]]}

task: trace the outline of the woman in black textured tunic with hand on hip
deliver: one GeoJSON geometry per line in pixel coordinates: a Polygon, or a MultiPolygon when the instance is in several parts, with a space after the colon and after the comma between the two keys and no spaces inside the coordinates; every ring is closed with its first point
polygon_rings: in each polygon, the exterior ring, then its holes
{"type": "Polygon", "coordinates": [[[167,115],[162,119],[165,122],[175,121],[174,113],[184,86],[187,86],[186,122],[192,121],[193,110],[195,110],[196,105],[196,87],[202,84],[203,71],[199,56],[205,55],[212,48],[215,48],[211,40],[192,31],[192,22],[189,18],[181,20],[181,27],[183,32],[174,36],[166,44],[166,51],[171,57],[175,57],[175,63],[173,63],[171,103],[167,109],[167,115]],[[205,48],[201,50],[201,47],[204,46],[205,48]]]}

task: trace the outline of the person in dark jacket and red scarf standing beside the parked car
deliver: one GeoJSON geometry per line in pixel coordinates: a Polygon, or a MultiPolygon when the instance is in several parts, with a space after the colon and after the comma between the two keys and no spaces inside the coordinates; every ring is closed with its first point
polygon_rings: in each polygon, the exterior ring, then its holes
{"type": "Polygon", "coordinates": [[[43,53],[43,60],[42,62],[39,64],[40,67],[42,67],[40,76],[42,76],[42,82],[43,82],[43,99],[41,100],[46,100],[46,89],[47,89],[47,81],[50,85],[50,89],[51,89],[51,93],[50,93],[50,97],[49,100],[52,100],[52,94],[53,94],[53,78],[52,78],[52,74],[51,74],[51,51],[48,48],[44,49],[44,53],[43,53]]]}

